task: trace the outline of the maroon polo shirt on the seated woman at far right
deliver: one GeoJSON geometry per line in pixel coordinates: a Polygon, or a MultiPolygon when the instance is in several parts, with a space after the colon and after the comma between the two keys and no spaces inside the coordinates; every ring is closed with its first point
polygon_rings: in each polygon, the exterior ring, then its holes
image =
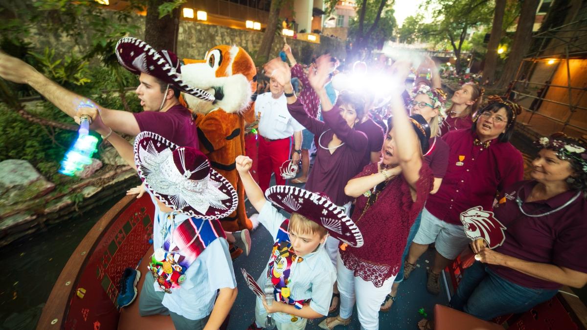
{"type": "MultiPolygon", "coordinates": [[[[505,189],[494,208],[495,218],[507,228],[505,241],[495,251],[525,261],[540,262],[587,273],[587,201],[582,194],[571,204],[551,214],[529,217],[516,199],[526,200],[536,181],[520,181],[505,189]]],[[[563,206],[579,191],[569,190],[548,200],[522,203],[530,215],[544,214],[563,206]]],[[[489,265],[500,277],[535,289],[558,289],[561,284],[541,280],[512,268],[489,265]]]]}

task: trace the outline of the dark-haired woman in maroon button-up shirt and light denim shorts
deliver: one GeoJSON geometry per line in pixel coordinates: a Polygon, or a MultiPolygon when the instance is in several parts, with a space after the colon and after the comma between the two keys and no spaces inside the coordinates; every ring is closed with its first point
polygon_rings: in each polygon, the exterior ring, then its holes
{"type": "Polygon", "coordinates": [[[524,174],[522,154],[509,142],[521,108],[497,95],[488,97],[488,101],[470,130],[443,136],[450,147],[446,175],[424,207],[420,228],[404,262],[404,278],[408,278],[420,255],[435,243],[434,264],[426,283],[431,294],[440,292],[440,272],[469,243],[460,213],[475,206],[491,210],[495,194],[524,174]]]}

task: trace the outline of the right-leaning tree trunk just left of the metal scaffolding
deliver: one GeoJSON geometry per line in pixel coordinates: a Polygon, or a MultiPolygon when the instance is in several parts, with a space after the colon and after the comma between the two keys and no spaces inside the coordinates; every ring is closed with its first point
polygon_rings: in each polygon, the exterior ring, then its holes
{"type": "Polygon", "coordinates": [[[522,3],[518,19],[518,28],[515,31],[510,55],[505,63],[500,80],[495,86],[498,89],[504,89],[505,86],[510,83],[510,80],[514,79],[519,63],[524,59],[524,56],[528,52],[528,48],[532,42],[532,26],[534,26],[534,19],[539,2],[539,0],[524,0],[522,3]]]}

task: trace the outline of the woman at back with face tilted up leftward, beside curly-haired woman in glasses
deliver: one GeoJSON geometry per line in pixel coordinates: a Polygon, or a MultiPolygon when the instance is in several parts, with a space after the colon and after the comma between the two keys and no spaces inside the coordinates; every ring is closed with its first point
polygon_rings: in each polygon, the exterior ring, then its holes
{"type": "Polygon", "coordinates": [[[453,104],[447,110],[448,116],[440,127],[440,135],[451,130],[471,128],[473,116],[483,103],[484,92],[483,87],[473,82],[464,83],[461,89],[454,92],[450,99],[453,104]]]}

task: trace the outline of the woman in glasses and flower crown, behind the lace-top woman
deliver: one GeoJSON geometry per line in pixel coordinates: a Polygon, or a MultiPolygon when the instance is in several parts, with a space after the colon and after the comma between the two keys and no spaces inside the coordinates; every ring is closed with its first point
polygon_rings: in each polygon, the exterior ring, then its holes
{"type": "MultiPolygon", "coordinates": [[[[444,112],[444,102],[446,101],[446,93],[440,88],[430,88],[427,85],[417,86],[417,89],[411,93],[412,101],[410,103],[411,115],[421,115],[426,119],[430,125],[430,140],[428,145],[430,149],[424,154],[424,162],[428,164],[430,170],[434,175],[434,187],[430,194],[436,194],[440,183],[446,174],[448,166],[448,151],[450,147],[438,136],[440,133],[439,123],[446,116],[444,112]]],[[[404,268],[403,264],[406,261],[410,244],[414,240],[414,236],[420,228],[422,213],[418,214],[416,221],[411,225],[410,233],[407,237],[406,247],[402,255],[402,262],[400,263],[400,269],[397,273],[396,280],[393,282],[392,291],[389,292],[385,301],[381,305],[380,311],[387,312],[392,308],[392,304],[396,301],[397,289],[399,289],[400,283],[404,280],[404,268]]]]}

